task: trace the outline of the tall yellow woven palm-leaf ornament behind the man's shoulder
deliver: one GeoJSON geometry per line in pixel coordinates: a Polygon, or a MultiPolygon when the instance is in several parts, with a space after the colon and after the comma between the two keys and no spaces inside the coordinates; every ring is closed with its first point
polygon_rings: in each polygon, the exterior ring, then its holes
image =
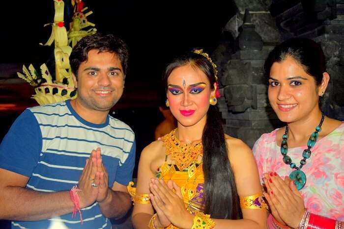
{"type": "MultiPolygon", "coordinates": [[[[53,42],[55,43],[55,80],[53,80],[53,77],[50,74],[46,64],[42,64],[40,66],[41,74],[38,74],[32,64],[29,65],[29,70],[25,67],[25,65],[23,66],[24,74],[19,72],[17,73],[18,77],[27,81],[31,86],[36,87],[36,94],[32,95],[31,98],[36,100],[36,102],[38,102],[40,105],[62,102],[67,99],[75,99],[77,96],[69,64],[69,55],[72,51],[72,47],[68,45],[70,42],[68,40],[66,27],[64,26],[64,2],[63,0],[53,1],[55,7],[54,22],[44,25],[51,25],[52,32],[48,41],[45,44],[40,43],[40,45],[51,46],[53,42]]],[[[82,6],[83,2],[79,0],[78,9],[82,8],[82,6]]],[[[86,8],[84,10],[86,10],[86,8]]],[[[85,20],[86,16],[91,13],[92,12],[85,14],[85,20]]],[[[88,23],[87,26],[88,25],[94,26],[92,23],[88,23]]],[[[84,27],[79,26],[80,29],[84,27]]],[[[94,28],[92,32],[95,33],[95,31],[96,29],[94,28]]],[[[85,36],[93,33],[86,32],[85,36]]],[[[78,38],[76,38],[77,41],[79,41],[82,37],[83,36],[78,36],[78,38]]],[[[73,44],[73,39],[71,39],[71,42],[73,44]]],[[[74,42],[74,45],[75,44],[76,42],[74,42]]]]}

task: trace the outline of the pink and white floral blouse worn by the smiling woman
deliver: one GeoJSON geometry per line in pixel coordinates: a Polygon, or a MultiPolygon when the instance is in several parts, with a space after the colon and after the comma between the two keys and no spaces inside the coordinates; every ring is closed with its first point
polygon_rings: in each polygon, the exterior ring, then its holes
{"type": "MultiPolygon", "coordinates": [[[[261,135],[253,147],[260,178],[269,171],[284,178],[294,170],[282,160],[276,132],[277,129],[261,135]]],[[[289,148],[287,155],[299,166],[306,148],[289,148]]],[[[302,168],[307,176],[306,185],[300,190],[305,206],[311,213],[344,221],[344,123],[318,140],[311,151],[302,168]]]]}

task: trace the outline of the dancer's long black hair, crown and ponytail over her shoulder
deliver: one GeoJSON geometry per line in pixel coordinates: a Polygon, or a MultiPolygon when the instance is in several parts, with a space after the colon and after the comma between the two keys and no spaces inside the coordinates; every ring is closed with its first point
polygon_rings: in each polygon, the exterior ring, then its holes
{"type": "MultiPolygon", "coordinates": [[[[211,89],[216,81],[214,69],[204,56],[194,52],[175,58],[165,70],[164,85],[172,71],[191,65],[208,77],[211,89]]],[[[240,219],[242,213],[235,186],[234,173],[229,163],[223,121],[217,106],[210,105],[202,133],[205,212],[212,218],[240,219]]]]}

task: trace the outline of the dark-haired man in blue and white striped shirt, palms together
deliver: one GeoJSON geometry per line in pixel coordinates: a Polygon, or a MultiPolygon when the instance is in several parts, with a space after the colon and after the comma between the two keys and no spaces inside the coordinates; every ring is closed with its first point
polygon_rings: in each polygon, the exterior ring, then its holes
{"type": "Polygon", "coordinates": [[[130,208],[135,137],[109,115],[127,60],[113,35],[83,38],[70,55],[77,98],[26,109],[13,123],[0,145],[0,219],[12,228],[110,229],[109,218],[130,208]]]}

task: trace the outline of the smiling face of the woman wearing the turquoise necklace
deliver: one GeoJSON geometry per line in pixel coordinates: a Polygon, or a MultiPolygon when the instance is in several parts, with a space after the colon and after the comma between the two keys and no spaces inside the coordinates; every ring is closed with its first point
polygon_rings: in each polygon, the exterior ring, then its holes
{"type": "Polygon", "coordinates": [[[273,63],[268,97],[281,121],[290,123],[307,119],[318,111],[319,93],[315,78],[307,74],[292,57],[273,63]]]}

